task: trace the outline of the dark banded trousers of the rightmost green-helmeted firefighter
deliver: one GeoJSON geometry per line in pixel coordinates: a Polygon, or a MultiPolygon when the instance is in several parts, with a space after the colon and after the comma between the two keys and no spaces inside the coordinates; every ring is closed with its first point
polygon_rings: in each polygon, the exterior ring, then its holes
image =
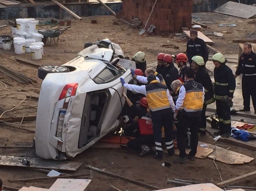
{"type": "Polygon", "coordinates": [[[231,131],[230,107],[227,102],[216,99],[217,116],[219,119],[219,127],[222,132],[231,131]]]}

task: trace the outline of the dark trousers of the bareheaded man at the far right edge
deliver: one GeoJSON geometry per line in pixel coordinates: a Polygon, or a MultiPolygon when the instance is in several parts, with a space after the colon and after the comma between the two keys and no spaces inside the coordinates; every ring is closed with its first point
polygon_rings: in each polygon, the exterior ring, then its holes
{"type": "Polygon", "coordinates": [[[256,76],[242,77],[243,108],[250,110],[250,96],[253,100],[253,108],[256,111],[256,76]]]}

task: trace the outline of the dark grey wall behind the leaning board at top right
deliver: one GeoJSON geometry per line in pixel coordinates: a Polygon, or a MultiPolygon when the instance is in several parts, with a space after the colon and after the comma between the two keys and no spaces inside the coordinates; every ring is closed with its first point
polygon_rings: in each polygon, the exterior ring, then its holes
{"type": "MultiPolygon", "coordinates": [[[[228,1],[238,3],[238,0],[193,0],[193,13],[211,12],[228,1]]],[[[252,5],[256,0],[240,0],[240,3],[252,5]]]]}

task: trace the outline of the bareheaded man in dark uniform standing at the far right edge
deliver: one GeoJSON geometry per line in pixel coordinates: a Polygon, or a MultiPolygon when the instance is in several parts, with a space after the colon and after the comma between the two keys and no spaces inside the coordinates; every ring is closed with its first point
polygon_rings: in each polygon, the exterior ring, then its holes
{"type": "Polygon", "coordinates": [[[239,58],[235,78],[242,74],[243,109],[250,111],[250,96],[253,100],[254,114],[256,114],[256,54],[251,50],[251,44],[245,43],[243,54],[239,58]]]}

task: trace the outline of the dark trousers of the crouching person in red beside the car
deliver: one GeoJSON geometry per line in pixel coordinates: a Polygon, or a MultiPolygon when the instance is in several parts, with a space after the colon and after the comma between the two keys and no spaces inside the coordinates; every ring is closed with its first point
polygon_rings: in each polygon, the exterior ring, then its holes
{"type": "Polygon", "coordinates": [[[136,151],[141,151],[142,145],[154,146],[154,135],[139,135],[127,143],[129,148],[136,151]]]}

